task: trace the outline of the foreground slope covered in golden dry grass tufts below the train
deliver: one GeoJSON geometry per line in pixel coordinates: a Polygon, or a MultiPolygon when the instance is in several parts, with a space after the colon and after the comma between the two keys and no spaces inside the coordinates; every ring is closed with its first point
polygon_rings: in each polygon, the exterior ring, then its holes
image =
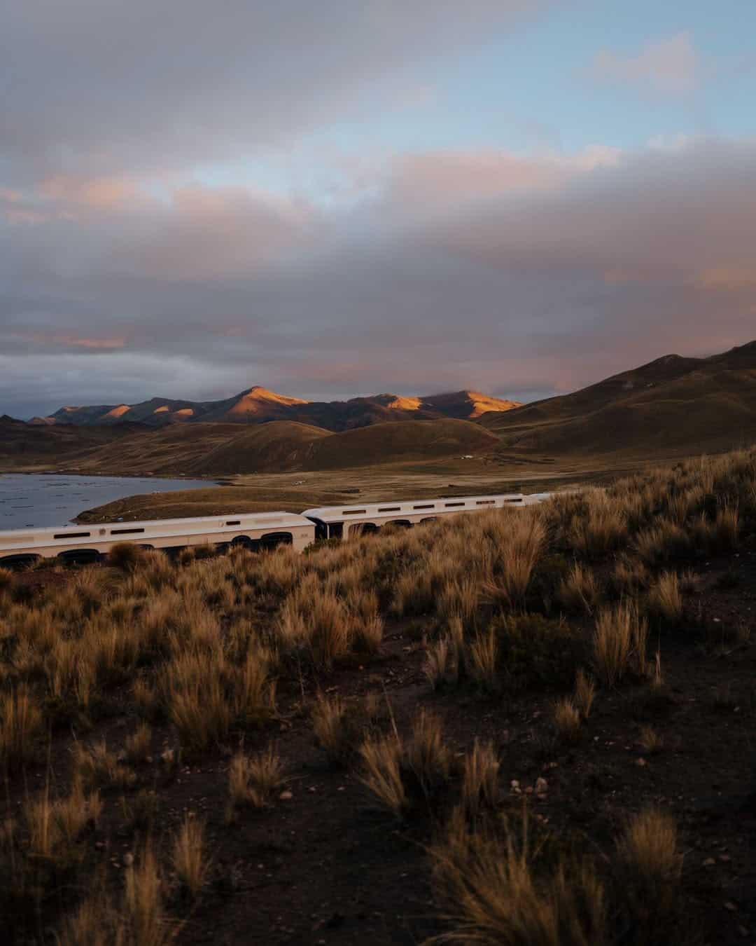
{"type": "Polygon", "coordinates": [[[756,450],[0,571],[4,941],[754,942],[754,609],[756,450]]]}

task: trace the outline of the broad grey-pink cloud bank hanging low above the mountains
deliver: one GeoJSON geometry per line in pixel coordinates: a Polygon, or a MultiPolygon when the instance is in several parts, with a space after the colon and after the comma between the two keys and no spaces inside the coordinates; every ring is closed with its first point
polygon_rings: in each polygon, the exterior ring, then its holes
{"type": "Polygon", "coordinates": [[[0,216],[0,412],[255,383],[569,390],[754,334],[756,141],[423,152],[354,189],[324,209],[195,184],[86,213],[86,184],[14,191],[47,213],[0,216]]]}

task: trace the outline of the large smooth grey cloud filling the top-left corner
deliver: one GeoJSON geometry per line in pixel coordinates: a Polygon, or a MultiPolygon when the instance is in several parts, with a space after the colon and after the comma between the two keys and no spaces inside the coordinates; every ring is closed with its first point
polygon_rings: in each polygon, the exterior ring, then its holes
{"type": "MultiPolygon", "coordinates": [[[[171,175],[405,107],[434,64],[559,0],[24,0],[4,9],[16,181],[171,175]]],[[[423,93],[424,94],[424,93],[423,93]]]]}

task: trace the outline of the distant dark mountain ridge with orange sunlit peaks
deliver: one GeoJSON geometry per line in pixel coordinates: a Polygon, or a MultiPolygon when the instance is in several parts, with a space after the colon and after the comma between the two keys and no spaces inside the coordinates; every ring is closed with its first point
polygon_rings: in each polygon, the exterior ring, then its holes
{"type": "Polygon", "coordinates": [[[219,401],[187,401],[150,397],[138,404],[98,404],[63,407],[49,417],[34,417],[36,425],[77,426],[124,423],[164,427],[167,424],[224,423],[264,424],[289,420],[327,430],[348,430],[371,424],[401,420],[437,420],[441,417],[473,420],[485,412],[510,411],[517,401],[491,397],[475,391],[404,397],[375,394],[347,401],[305,401],[276,394],[260,385],[219,401]]]}

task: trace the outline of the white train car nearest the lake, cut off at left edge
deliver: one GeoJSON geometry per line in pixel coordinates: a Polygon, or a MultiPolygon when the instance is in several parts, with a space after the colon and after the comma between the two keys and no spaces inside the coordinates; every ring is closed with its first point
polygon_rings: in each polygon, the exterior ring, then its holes
{"type": "Polygon", "coordinates": [[[0,566],[23,565],[54,555],[64,561],[96,561],[119,542],[166,550],[208,542],[219,546],[244,545],[252,550],[291,545],[301,552],[313,541],[315,523],[286,512],[11,529],[0,532],[0,566]]]}

